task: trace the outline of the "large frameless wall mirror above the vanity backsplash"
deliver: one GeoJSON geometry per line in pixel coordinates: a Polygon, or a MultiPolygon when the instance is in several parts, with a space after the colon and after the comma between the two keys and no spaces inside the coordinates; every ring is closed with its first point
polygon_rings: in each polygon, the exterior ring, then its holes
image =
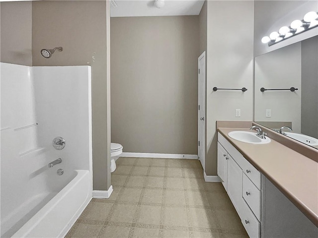
{"type": "Polygon", "coordinates": [[[318,36],[255,57],[254,85],[254,121],[318,149],[318,36]]]}

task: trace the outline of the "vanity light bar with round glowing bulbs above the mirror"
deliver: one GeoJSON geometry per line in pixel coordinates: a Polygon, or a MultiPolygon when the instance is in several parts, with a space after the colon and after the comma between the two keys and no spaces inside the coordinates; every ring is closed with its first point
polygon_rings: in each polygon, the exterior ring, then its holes
{"type": "Polygon", "coordinates": [[[283,26],[278,32],[274,31],[270,33],[269,36],[264,36],[261,41],[271,46],[316,26],[318,26],[318,13],[316,11],[310,11],[305,14],[304,20],[294,20],[290,24],[290,27],[283,26]]]}

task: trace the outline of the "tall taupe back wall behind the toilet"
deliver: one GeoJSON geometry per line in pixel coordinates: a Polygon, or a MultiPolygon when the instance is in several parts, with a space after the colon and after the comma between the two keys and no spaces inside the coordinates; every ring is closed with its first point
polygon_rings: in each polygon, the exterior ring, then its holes
{"type": "Polygon", "coordinates": [[[197,154],[199,17],[111,18],[111,140],[197,154]]]}

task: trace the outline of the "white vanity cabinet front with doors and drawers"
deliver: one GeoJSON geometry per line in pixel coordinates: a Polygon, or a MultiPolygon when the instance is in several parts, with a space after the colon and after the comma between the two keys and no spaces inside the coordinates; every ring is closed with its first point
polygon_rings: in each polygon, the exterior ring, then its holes
{"type": "Polygon", "coordinates": [[[218,176],[251,238],[260,237],[261,174],[218,133],[218,176]]]}

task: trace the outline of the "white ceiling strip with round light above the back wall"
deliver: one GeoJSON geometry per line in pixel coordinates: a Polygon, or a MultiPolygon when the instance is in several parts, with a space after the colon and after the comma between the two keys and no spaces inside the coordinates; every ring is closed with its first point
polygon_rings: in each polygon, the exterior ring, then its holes
{"type": "Polygon", "coordinates": [[[204,0],[164,0],[164,6],[157,8],[154,0],[115,0],[111,4],[110,16],[183,16],[199,15],[204,0]]]}

